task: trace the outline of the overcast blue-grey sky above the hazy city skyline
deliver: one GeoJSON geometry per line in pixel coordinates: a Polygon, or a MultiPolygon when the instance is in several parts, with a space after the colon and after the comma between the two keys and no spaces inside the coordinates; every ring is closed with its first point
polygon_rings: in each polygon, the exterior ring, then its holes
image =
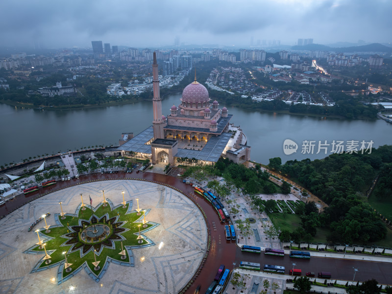
{"type": "Polygon", "coordinates": [[[392,0],[0,0],[0,9],[0,46],[392,41],[392,0]]]}

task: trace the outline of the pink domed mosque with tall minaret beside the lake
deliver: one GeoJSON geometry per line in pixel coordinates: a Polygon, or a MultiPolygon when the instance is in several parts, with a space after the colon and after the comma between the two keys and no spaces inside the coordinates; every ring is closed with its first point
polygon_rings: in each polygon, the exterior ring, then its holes
{"type": "Polygon", "coordinates": [[[196,81],[182,92],[180,104],[170,108],[168,117],[162,115],[159,91],[158,64],[154,52],[153,121],[152,126],[132,136],[123,133],[119,151],[123,155],[133,152],[139,157],[150,158],[152,164],[176,164],[177,158],[196,159],[213,164],[221,156],[236,163],[250,159],[250,147],[240,127],[230,120],[227,108],[219,108],[218,101],[211,102],[208,90],[196,81]]]}

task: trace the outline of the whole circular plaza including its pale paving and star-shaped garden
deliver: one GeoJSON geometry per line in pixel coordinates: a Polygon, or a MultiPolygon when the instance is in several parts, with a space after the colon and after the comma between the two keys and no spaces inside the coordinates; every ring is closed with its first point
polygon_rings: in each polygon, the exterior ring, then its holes
{"type": "Polygon", "coordinates": [[[178,293],[208,242],[194,202],[138,180],[54,191],[8,214],[0,227],[0,289],[7,293],[178,293]],[[28,232],[44,214],[47,224],[28,232]]]}

